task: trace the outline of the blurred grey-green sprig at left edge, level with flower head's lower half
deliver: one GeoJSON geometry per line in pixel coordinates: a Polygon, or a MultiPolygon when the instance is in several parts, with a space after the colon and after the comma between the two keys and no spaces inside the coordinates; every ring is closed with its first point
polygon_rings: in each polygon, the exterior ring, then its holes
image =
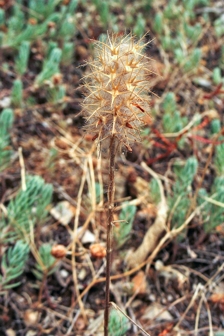
{"type": "Polygon", "coordinates": [[[6,168],[12,154],[8,146],[10,145],[9,131],[13,120],[14,115],[11,109],[2,110],[0,115],[0,172],[6,168]]]}

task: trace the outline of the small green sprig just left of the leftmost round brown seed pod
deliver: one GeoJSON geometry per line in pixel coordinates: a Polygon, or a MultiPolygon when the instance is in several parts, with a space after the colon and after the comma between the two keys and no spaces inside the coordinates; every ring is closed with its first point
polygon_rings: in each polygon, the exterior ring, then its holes
{"type": "MultiPolygon", "coordinates": [[[[46,244],[42,244],[39,248],[39,255],[40,255],[40,258],[41,258],[41,261],[43,262],[44,266],[49,269],[54,261],[56,260],[52,255],[51,255],[51,249],[52,249],[52,246],[48,243],[46,244]]],[[[55,270],[56,270],[57,267],[53,267],[52,269],[49,269],[48,271],[48,275],[51,275],[55,270]]],[[[43,268],[41,266],[40,263],[36,263],[35,264],[35,268],[32,269],[33,271],[33,274],[36,276],[36,278],[38,280],[42,280],[43,279],[43,268]]]]}

